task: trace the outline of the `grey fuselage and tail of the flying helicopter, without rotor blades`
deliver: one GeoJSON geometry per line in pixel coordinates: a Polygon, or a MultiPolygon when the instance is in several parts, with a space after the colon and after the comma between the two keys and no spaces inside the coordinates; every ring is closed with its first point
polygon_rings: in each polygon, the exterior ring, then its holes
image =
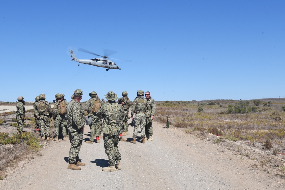
{"type": "MultiPolygon", "coordinates": [[[[87,60],[87,59],[77,59],[75,57],[75,55],[73,54],[73,51],[69,51],[70,54],[71,54],[71,57],[72,57],[72,60],[71,61],[76,61],[80,64],[86,64],[86,65],[93,65],[93,66],[96,66],[96,67],[104,67],[106,68],[106,70],[108,71],[109,69],[119,69],[121,70],[121,68],[116,65],[115,62],[112,62],[110,60],[107,60],[107,59],[104,59],[104,58],[94,58],[94,59],[90,59],[90,60],[87,60]]],[[[78,66],[80,65],[78,64],[78,66]]]]}

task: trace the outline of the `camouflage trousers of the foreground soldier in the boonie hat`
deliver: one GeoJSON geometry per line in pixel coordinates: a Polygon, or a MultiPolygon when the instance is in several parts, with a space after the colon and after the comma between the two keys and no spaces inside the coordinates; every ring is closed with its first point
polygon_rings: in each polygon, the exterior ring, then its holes
{"type": "Polygon", "coordinates": [[[108,156],[110,166],[115,166],[116,161],[122,160],[118,149],[119,134],[103,134],[105,153],[108,156]]]}

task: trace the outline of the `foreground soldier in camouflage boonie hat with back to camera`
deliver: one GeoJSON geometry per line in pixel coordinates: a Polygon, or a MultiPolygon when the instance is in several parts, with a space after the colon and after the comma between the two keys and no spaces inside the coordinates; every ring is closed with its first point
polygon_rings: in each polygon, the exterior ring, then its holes
{"type": "Polygon", "coordinates": [[[120,160],[122,159],[118,149],[119,134],[123,125],[124,115],[122,107],[116,103],[118,96],[110,91],[105,95],[108,103],[102,105],[97,112],[97,117],[103,118],[103,140],[105,152],[109,159],[108,167],[103,167],[102,171],[116,171],[122,169],[120,160]],[[116,164],[115,164],[116,162],[116,164]]]}

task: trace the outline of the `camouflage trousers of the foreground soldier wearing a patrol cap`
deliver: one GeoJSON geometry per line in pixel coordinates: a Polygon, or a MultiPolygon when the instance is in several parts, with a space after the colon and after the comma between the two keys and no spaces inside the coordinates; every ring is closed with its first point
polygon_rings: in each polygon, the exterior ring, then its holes
{"type": "Polygon", "coordinates": [[[80,151],[82,141],[83,141],[83,131],[73,131],[69,132],[69,141],[70,141],[70,149],[69,149],[69,158],[68,164],[76,164],[79,160],[78,153],[80,151]]]}

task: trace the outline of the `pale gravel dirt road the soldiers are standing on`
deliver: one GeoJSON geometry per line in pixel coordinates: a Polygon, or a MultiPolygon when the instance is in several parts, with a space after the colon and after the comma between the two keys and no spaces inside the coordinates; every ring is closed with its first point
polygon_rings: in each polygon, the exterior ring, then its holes
{"type": "MultiPolygon", "coordinates": [[[[81,170],[67,169],[68,140],[46,142],[42,156],[22,162],[0,181],[0,189],[284,189],[284,179],[253,169],[253,160],[163,126],[153,123],[153,141],[145,144],[129,142],[130,127],[128,142],[119,143],[122,170],[116,172],[102,171],[108,166],[103,141],[83,142],[81,170]]],[[[88,126],[84,141],[89,136],[88,126]]]]}

